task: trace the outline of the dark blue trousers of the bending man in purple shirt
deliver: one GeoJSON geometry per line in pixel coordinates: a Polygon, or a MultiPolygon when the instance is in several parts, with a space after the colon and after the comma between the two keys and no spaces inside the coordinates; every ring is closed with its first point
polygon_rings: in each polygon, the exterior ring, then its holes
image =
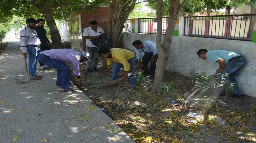
{"type": "Polygon", "coordinates": [[[61,85],[62,89],[69,89],[70,86],[70,68],[58,59],[51,59],[50,57],[39,54],[39,60],[47,66],[57,69],[56,85],[61,85]]]}

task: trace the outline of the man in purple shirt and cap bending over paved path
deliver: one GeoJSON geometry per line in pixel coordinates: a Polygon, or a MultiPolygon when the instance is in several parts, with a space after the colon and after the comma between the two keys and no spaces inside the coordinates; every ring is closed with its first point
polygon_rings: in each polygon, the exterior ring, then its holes
{"type": "Polygon", "coordinates": [[[39,60],[47,66],[57,69],[56,86],[61,86],[60,91],[76,92],[70,88],[70,68],[65,64],[70,62],[73,66],[75,79],[81,83],[79,63],[83,61],[91,61],[90,54],[87,52],[76,52],[73,49],[52,49],[46,50],[39,54],[39,60]]]}

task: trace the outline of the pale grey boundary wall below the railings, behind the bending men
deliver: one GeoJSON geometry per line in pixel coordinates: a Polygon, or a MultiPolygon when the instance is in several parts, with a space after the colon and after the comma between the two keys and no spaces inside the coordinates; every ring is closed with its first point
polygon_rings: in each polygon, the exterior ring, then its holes
{"type": "MultiPolygon", "coordinates": [[[[163,40],[162,36],[162,40],[163,40]]],[[[134,40],[156,41],[156,34],[123,33],[124,48],[134,50],[131,43],[134,40]]],[[[244,94],[256,97],[256,43],[251,41],[236,41],[225,39],[197,38],[185,36],[173,36],[171,54],[166,64],[166,70],[180,72],[187,75],[186,70],[196,69],[197,73],[206,72],[214,74],[218,65],[198,58],[199,49],[229,50],[243,55],[246,59],[245,66],[240,70],[237,81],[244,94]]]]}

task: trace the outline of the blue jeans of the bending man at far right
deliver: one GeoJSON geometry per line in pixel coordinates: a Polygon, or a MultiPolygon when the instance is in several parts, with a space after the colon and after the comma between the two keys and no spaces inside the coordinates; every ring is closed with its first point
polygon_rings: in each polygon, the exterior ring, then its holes
{"type": "MultiPolygon", "coordinates": [[[[243,57],[241,57],[240,59],[233,59],[226,64],[224,70],[222,71],[223,74],[228,73],[229,81],[234,83],[233,92],[238,95],[243,93],[240,90],[235,77],[238,75],[239,70],[241,69],[241,67],[243,67],[244,64],[245,59],[243,57]]],[[[219,76],[219,79],[220,78],[221,76],[219,76]]],[[[225,93],[225,91],[222,90],[221,93],[225,93]]]]}

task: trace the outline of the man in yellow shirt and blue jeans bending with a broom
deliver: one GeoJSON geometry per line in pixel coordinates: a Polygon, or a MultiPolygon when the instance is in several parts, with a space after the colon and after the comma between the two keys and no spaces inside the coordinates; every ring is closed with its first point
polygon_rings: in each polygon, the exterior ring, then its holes
{"type": "MultiPolygon", "coordinates": [[[[124,65],[125,73],[123,75],[124,78],[128,76],[129,72],[133,72],[133,68],[135,65],[135,57],[134,54],[126,49],[112,48],[108,49],[106,47],[102,47],[99,49],[99,54],[106,58],[108,68],[105,70],[108,71],[112,65],[112,80],[118,78],[118,73],[120,68],[124,65]]],[[[130,89],[136,88],[136,78],[130,76],[130,89]]]]}

